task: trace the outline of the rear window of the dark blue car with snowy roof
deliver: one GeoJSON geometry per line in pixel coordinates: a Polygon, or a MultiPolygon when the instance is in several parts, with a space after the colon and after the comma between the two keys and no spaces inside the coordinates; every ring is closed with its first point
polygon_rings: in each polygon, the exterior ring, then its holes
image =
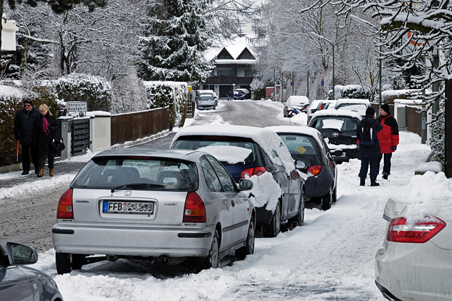
{"type": "MultiPolygon", "coordinates": [[[[234,163],[233,165],[249,165],[249,164],[259,164],[259,156],[257,155],[257,145],[252,140],[242,140],[235,139],[234,137],[209,137],[209,136],[201,136],[188,138],[181,136],[178,140],[175,141],[175,144],[172,148],[175,149],[200,149],[201,147],[208,147],[213,145],[224,145],[224,146],[233,146],[233,147],[242,147],[245,149],[250,149],[250,154],[245,158],[244,161],[234,163]]],[[[232,165],[228,164],[225,161],[222,161],[221,158],[218,158],[221,163],[224,165],[232,165]]]]}

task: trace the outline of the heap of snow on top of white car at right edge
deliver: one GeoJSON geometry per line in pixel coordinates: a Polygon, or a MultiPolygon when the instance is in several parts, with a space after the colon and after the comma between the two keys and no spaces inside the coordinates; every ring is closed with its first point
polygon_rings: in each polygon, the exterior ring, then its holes
{"type": "Polygon", "coordinates": [[[404,217],[409,223],[426,216],[449,218],[452,215],[452,179],[447,179],[444,172],[415,175],[392,199],[408,204],[404,217]]]}

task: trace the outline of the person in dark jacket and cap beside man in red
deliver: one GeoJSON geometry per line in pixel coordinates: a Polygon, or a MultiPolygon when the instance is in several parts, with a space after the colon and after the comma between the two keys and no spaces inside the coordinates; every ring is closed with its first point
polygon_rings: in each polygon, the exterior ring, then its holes
{"type": "Polygon", "coordinates": [[[360,144],[361,169],[360,186],[366,185],[366,174],[371,165],[371,186],[380,186],[376,182],[378,174],[378,158],[380,158],[380,143],[377,133],[382,130],[382,125],[376,122],[375,109],[369,106],[366,117],[358,123],[356,129],[357,143],[360,144]]]}

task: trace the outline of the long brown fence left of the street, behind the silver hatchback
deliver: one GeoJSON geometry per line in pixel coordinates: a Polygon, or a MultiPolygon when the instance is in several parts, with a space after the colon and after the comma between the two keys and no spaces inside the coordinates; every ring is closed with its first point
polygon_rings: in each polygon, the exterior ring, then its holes
{"type": "Polygon", "coordinates": [[[111,116],[111,145],[134,141],[170,128],[170,108],[111,116]]]}

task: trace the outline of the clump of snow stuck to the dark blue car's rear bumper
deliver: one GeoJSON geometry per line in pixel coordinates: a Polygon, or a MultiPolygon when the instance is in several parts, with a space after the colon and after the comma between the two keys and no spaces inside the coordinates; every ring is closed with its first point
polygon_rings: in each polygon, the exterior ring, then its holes
{"type": "Polygon", "coordinates": [[[273,179],[271,172],[264,172],[260,176],[250,177],[254,184],[252,190],[246,191],[250,202],[255,207],[261,207],[267,204],[266,210],[275,211],[278,199],[281,196],[281,188],[273,179]]]}

